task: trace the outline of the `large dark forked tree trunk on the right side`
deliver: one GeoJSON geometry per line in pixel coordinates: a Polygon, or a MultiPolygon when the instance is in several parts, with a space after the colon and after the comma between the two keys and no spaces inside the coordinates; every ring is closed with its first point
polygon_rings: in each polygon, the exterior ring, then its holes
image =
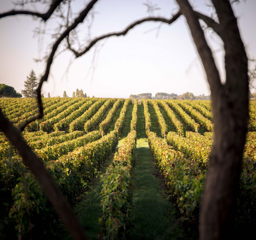
{"type": "Polygon", "coordinates": [[[233,239],[236,194],[248,121],[248,66],[228,0],[212,0],[224,42],[226,82],[221,84],[212,53],[188,0],[177,0],[187,19],[212,93],[214,144],[200,208],[201,240],[233,239]]]}

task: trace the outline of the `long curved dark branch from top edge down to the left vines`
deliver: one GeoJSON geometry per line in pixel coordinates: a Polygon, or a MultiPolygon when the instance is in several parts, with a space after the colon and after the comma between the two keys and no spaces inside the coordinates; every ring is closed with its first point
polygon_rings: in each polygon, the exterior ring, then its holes
{"type": "Polygon", "coordinates": [[[36,116],[31,117],[30,119],[28,119],[27,121],[25,121],[20,127],[20,131],[24,130],[24,128],[30,124],[31,122],[35,121],[36,119],[41,119],[43,117],[43,105],[42,105],[42,98],[41,98],[41,88],[43,85],[44,81],[48,80],[49,74],[50,74],[50,68],[53,62],[53,58],[54,55],[59,47],[59,45],[61,44],[61,42],[63,41],[63,39],[68,36],[68,34],[70,33],[70,31],[72,31],[74,28],[77,27],[78,24],[82,23],[84,21],[84,19],[86,18],[87,14],[90,12],[90,10],[93,8],[94,4],[97,2],[97,0],[91,0],[88,5],[86,6],[86,8],[80,12],[79,16],[74,20],[74,22],[65,29],[65,31],[61,34],[61,36],[55,41],[53,47],[52,47],[52,52],[50,53],[48,59],[47,59],[47,64],[46,64],[46,69],[45,69],[45,73],[42,76],[41,80],[38,83],[38,87],[36,89],[37,92],[37,103],[38,103],[38,110],[39,113],[36,116]]]}

